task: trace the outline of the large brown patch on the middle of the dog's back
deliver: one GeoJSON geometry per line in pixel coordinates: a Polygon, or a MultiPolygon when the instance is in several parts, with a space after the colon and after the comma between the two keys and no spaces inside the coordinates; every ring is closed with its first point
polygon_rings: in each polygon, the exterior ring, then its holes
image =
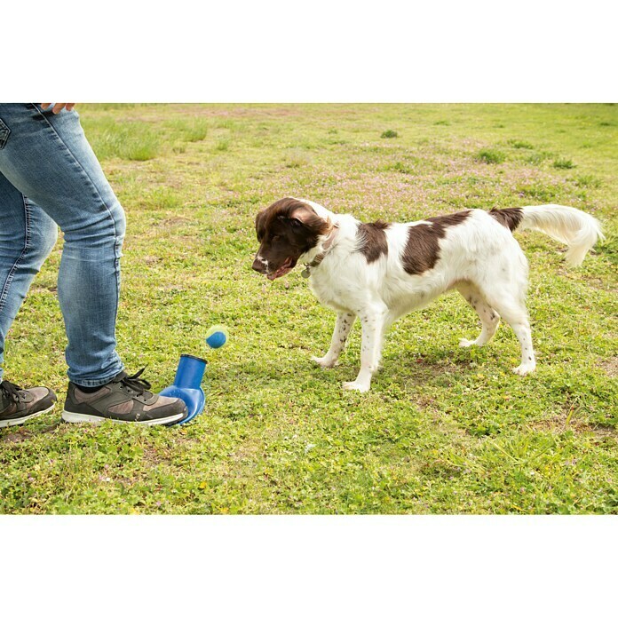
{"type": "Polygon", "coordinates": [[[401,264],[408,274],[423,274],[431,270],[440,258],[440,239],[447,234],[447,228],[458,226],[468,218],[470,210],[454,212],[452,215],[425,219],[424,223],[408,227],[408,242],[401,255],[401,264]]]}

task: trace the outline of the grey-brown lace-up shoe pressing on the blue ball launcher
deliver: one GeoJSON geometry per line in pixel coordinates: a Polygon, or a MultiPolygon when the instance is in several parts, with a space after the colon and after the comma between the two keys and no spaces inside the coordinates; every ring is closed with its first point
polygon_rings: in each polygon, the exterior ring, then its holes
{"type": "Polygon", "coordinates": [[[148,391],[150,384],[139,377],[143,371],[133,376],[123,371],[95,392],[84,392],[69,382],[63,420],[102,423],[108,418],[115,423],[155,425],[174,424],[186,418],[185,402],[148,391]]]}

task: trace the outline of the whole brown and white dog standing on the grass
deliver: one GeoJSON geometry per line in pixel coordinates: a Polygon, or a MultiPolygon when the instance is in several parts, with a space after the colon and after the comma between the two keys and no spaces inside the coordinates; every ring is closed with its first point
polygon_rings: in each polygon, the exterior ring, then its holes
{"type": "Polygon", "coordinates": [[[354,321],[361,320],[361,370],[345,389],[367,392],[392,323],[450,289],[461,292],[482,325],[479,337],[460,345],[487,344],[502,317],[521,347],[513,371],[526,376],[536,366],[526,309],[528,265],[513,236],[526,229],[565,243],[572,266],[604,238],[596,218],[556,204],[462,210],[413,223],[361,223],[286,197],[256,217],[260,246],[253,269],[274,281],[305,263],[302,274],[313,294],[337,312],[329,351],[312,357],[323,368],[337,364],[354,321]]]}

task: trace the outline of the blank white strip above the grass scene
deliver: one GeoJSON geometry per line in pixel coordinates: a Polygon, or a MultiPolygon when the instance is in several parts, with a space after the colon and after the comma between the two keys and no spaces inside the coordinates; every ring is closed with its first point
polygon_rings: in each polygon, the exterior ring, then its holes
{"type": "Polygon", "coordinates": [[[612,5],[5,3],[0,99],[613,102],[612,5]]]}

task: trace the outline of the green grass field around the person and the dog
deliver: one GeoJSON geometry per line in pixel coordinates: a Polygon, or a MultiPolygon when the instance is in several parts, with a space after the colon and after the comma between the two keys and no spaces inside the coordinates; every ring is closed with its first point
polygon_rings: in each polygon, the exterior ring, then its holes
{"type": "Polygon", "coordinates": [[[207,408],[174,428],[62,424],[61,240],[7,342],[6,377],[59,393],[52,415],[0,430],[2,513],[616,513],[618,106],[83,105],[128,218],[119,351],[155,390],[180,353],[209,353],[207,408]],[[367,394],[358,325],[340,365],[334,314],[299,272],[251,271],[256,212],[285,195],[363,220],[547,202],[600,218],[578,270],[517,234],[530,262],[538,368],[514,376],[502,325],[463,297],[397,322],[367,394]]]}

